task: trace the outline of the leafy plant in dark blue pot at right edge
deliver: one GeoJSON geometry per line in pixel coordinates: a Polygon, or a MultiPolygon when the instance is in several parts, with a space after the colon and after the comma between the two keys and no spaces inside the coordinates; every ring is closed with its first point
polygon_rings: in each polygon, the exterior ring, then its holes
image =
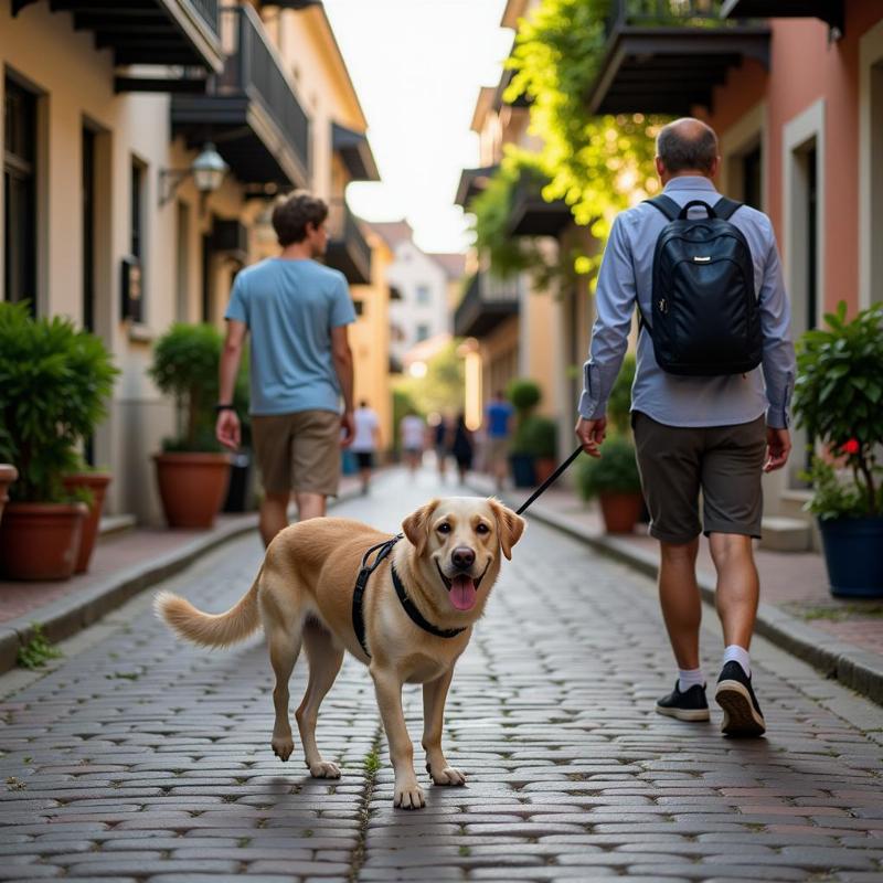
{"type": "Polygon", "coordinates": [[[822,451],[806,477],[818,518],[831,593],[883,595],[883,304],[847,321],[843,301],[827,329],[798,341],[794,409],[822,451]]]}

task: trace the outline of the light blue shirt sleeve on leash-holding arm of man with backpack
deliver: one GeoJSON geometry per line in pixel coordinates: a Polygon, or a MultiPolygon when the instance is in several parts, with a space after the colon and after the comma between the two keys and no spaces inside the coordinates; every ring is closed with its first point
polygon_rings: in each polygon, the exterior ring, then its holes
{"type": "Polygon", "coordinates": [[[610,230],[595,289],[597,316],[588,361],[583,365],[578,405],[579,416],[585,419],[600,419],[607,413],[607,398],[628,348],[636,297],[631,247],[619,215],[610,230]]]}

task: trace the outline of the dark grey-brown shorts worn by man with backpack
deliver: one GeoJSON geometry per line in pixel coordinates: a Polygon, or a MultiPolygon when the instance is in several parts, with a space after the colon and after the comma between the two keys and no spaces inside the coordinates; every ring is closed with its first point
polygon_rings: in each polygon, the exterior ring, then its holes
{"type": "Polygon", "coordinates": [[[760,536],[763,416],[734,426],[683,427],[634,412],[631,425],[652,536],[666,543],[689,543],[703,532],[760,536]]]}

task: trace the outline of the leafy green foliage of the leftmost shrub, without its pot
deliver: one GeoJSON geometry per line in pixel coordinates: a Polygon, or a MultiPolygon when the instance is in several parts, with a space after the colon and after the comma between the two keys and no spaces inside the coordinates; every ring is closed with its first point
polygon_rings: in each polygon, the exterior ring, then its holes
{"type": "Polygon", "coordinates": [[[70,319],[33,319],[24,304],[0,304],[0,462],[19,470],[13,500],[67,499],[62,476],[107,415],[118,373],[100,338],[70,319]]]}

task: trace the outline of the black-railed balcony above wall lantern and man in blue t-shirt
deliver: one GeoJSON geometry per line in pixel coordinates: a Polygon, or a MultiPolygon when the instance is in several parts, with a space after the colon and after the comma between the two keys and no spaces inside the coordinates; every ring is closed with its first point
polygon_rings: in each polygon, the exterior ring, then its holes
{"type": "Polygon", "coordinates": [[[233,41],[224,70],[205,95],[172,98],[172,134],[191,149],[213,141],[243,183],[305,188],[310,123],[285,65],[251,6],[221,14],[233,41]]]}

